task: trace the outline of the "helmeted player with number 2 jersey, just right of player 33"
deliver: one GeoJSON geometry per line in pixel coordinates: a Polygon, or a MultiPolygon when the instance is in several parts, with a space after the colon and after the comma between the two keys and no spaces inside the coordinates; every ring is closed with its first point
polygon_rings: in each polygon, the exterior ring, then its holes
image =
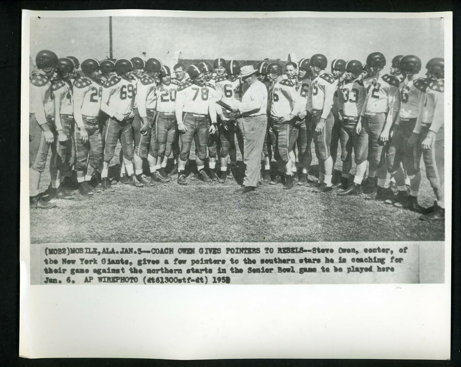
{"type": "MultiPolygon", "coordinates": [[[[372,52],[366,58],[369,75],[363,80],[367,95],[361,113],[361,128],[366,134],[361,139],[368,139],[368,179],[367,188],[371,191],[368,198],[383,200],[392,195],[392,190],[385,189],[387,168],[385,150],[390,137],[390,128],[400,108],[399,80],[389,74],[382,75],[386,59],[381,52],[372,52]],[[378,179],[375,177],[378,174],[378,179]]],[[[365,142],[360,143],[365,145],[365,142]]],[[[404,175],[400,168],[397,175],[404,175]]]]}

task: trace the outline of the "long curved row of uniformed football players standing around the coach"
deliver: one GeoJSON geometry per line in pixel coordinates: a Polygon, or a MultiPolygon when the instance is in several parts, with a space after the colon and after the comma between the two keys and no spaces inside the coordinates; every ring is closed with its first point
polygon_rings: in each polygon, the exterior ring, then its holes
{"type": "MultiPolygon", "coordinates": [[[[380,52],[370,54],[363,66],[358,60],[333,60],[331,73],[326,71],[327,59],[321,54],[303,58],[299,64],[289,62],[286,75],[278,63],[258,64],[258,79],[269,96],[261,179],[272,185],[282,183],[284,189],[293,187],[293,181],[313,187],[314,192],[342,188],[340,195],[361,194],[363,186],[367,198],[419,211],[425,214],[424,219],[443,220],[443,184],[435,162],[435,134],[443,124],[443,59],[429,61],[425,78],[417,77],[421,61],[414,55],[394,58],[393,75],[382,75],[385,64],[380,52]],[[319,159],[317,182],[307,179],[312,141],[319,159]],[[341,180],[332,185],[338,142],[343,172],[341,180]],[[349,185],[352,151],[357,168],[349,185]],[[278,175],[272,180],[271,152],[278,166],[278,175]],[[427,209],[417,203],[421,155],[437,197],[427,209]],[[396,195],[384,188],[388,172],[395,179],[396,195]],[[409,195],[406,175],[410,178],[409,195]]],[[[177,183],[187,185],[193,140],[197,168],[193,179],[225,182],[232,177],[235,138],[240,149],[243,147],[236,120],[246,90],[236,60],[226,63],[223,58],[216,59],[215,78],[207,63],[191,65],[189,78],[183,65],[177,64],[176,79],[156,58],[115,63],[87,59],[81,64],[83,75],[78,76],[77,58],[58,59],[43,50],[37,54],[36,65],[38,70],[30,74],[31,207],[55,205],[38,192],[50,146],[48,198],[73,198],[73,192],[64,188],[71,186],[72,168],[82,195],[114,191],[108,168],[118,140],[122,183],[152,186],[153,181],[168,182],[177,174],[177,183]],[[168,175],[165,168],[171,152],[177,165],[168,175]],[[216,171],[218,158],[220,168],[216,171]],[[144,160],[150,176],[143,174],[144,160]]]]}

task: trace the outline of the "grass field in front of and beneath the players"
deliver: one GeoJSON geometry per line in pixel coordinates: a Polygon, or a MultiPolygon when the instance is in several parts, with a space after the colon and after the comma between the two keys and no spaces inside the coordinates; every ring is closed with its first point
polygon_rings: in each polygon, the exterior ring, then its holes
{"type": "MultiPolygon", "coordinates": [[[[152,187],[117,184],[115,192],[89,197],[76,192],[75,200],[56,200],[57,206],[51,210],[31,210],[31,242],[444,239],[443,222],[421,221],[417,213],[365,200],[364,196],[344,198],[335,191],[318,194],[296,184],[285,191],[281,185],[268,183],[246,195],[233,194],[243,181],[244,168],[241,161],[238,164],[236,181],[228,180],[224,185],[191,181],[189,176],[188,186],[178,186],[175,178],[152,187]]],[[[317,168],[314,157],[314,175],[310,179],[315,179],[317,168]]],[[[340,160],[335,169],[341,169],[340,160]]],[[[422,162],[421,169],[419,202],[430,206],[433,192],[422,162]]],[[[118,154],[111,162],[111,170],[119,170],[118,154]]],[[[275,170],[272,162],[272,171],[275,170]]],[[[49,182],[47,168],[42,175],[41,191],[45,191],[49,182]]]]}

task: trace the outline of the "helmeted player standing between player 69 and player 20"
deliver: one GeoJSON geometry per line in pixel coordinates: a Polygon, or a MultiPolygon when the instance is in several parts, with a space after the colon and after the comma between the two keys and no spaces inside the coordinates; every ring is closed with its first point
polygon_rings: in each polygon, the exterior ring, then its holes
{"type": "Polygon", "coordinates": [[[171,179],[160,173],[163,157],[158,156],[157,141],[157,120],[156,116],[158,89],[156,80],[159,78],[163,64],[157,58],[149,58],[145,63],[145,72],[137,81],[136,87],[136,110],[139,114],[141,123],[133,120],[133,133],[135,136],[135,175],[139,182],[145,186],[152,186],[152,181],[168,182],[171,179]],[[149,163],[151,178],[149,179],[142,173],[142,160],[146,159],[149,163]]]}

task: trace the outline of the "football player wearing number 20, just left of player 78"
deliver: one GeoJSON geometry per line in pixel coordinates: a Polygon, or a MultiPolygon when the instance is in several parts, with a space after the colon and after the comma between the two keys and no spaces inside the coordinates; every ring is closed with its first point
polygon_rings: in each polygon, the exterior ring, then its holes
{"type": "Polygon", "coordinates": [[[167,176],[165,172],[166,163],[168,162],[168,157],[171,155],[176,135],[179,134],[177,132],[177,121],[174,112],[178,83],[176,79],[171,79],[170,68],[166,65],[162,66],[160,77],[162,78],[162,84],[157,93],[155,126],[157,128],[158,142],[157,172],[160,172],[160,176],[163,178],[167,176]]]}

